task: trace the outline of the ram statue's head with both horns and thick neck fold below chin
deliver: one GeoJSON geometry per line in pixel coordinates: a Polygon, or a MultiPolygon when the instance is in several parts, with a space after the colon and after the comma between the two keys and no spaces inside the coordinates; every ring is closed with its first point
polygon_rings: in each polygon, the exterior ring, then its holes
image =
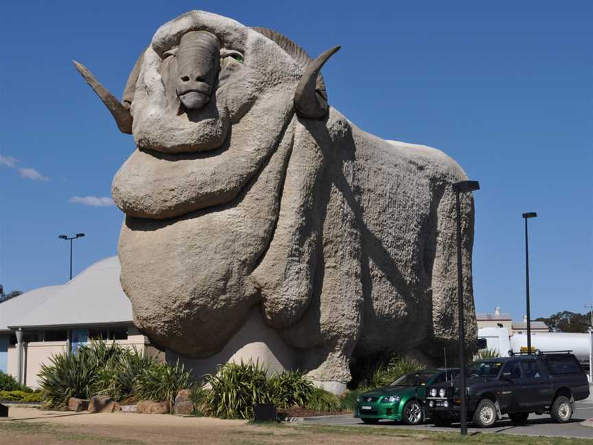
{"type": "Polygon", "coordinates": [[[75,62],[139,149],[115,176],[115,203],[129,216],[162,219],[235,198],[294,111],[301,119],[327,116],[319,72],[338,49],[312,60],[277,32],[192,11],[157,30],[122,102],[75,62]],[[196,162],[174,169],[161,162],[149,174],[157,159],[196,162]]]}

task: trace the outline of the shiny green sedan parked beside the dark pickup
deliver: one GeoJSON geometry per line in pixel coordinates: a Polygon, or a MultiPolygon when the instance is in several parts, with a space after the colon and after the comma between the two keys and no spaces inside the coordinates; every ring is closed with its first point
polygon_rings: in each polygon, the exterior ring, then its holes
{"type": "Polygon", "coordinates": [[[458,369],[423,369],[406,374],[386,387],[362,393],[356,399],[354,417],[367,424],[381,419],[421,424],[425,418],[426,387],[452,380],[458,372],[458,369]]]}

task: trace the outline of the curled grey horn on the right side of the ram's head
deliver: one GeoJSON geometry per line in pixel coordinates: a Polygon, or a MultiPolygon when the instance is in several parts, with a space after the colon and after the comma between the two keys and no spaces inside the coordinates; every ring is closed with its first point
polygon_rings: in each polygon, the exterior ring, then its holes
{"type": "Polygon", "coordinates": [[[316,91],[316,82],[319,71],[331,56],[336,54],[339,46],[328,49],[318,56],[310,65],[305,67],[305,72],[294,92],[294,108],[296,114],[305,119],[323,119],[327,116],[329,107],[327,99],[316,91]]]}

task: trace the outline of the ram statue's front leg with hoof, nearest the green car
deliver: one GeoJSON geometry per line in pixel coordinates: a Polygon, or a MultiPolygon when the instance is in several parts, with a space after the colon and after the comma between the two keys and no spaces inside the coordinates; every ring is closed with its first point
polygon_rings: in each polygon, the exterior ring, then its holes
{"type": "Polygon", "coordinates": [[[362,326],[361,236],[349,191],[335,183],[327,190],[311,303],[280,334],[303,350],[301,369],[316,385],[340,393],[351,380],[349,359],[362,326]]]}

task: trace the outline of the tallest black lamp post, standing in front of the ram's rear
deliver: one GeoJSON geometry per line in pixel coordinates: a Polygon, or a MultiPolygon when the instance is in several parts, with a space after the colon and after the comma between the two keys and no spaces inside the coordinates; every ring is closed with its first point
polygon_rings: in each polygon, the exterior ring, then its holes
{"type": "Polygon", "coordinates": [[[480,190],[478,181],[461,181],[453,184],[456,198],[457,213],[457,305],[459,318],[459,378],[461,379],[460,396],[461,407],[459,420],[461,420],[461,434],[467,435],[467,400],[465,397],[465,323],[463,315],[463,274],[461,273],[461,203],[459,195],[462,193],[480,190]]]}

